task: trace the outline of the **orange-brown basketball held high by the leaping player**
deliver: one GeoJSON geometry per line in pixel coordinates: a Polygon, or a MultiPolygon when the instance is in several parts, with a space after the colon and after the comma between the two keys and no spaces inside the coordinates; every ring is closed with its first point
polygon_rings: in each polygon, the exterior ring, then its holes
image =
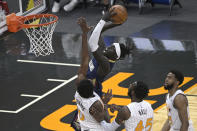
{"type": "Polygon", "coordinates": [[[112,6],[109,11],[114,9],[116,15],[111,17],[111,20],[114,24],[123,24],[128,17],[127,9],[122,5],[114,5],[112,6]]]}

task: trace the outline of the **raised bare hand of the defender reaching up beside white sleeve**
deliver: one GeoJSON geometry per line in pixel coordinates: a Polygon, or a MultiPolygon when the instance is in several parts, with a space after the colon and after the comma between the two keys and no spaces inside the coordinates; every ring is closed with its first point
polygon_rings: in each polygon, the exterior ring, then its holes
{"type": "Polygon", "coordinates": [[[93,26],[87,25],[86,19],[84,17],[78,18],[77,23],[81,27],[83,33],[88,33],[93,28],[93,26]]]}

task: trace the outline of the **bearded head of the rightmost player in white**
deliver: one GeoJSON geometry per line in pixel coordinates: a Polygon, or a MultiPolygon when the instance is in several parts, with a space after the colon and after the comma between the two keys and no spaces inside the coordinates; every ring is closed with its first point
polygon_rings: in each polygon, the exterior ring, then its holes
{"type": "Polygon", "coordinates": [[[183,74],[178,70],[171,70],[166,76],[164,88],[170,90],[173,87],[178,87],[184,80],[183,74]]]}

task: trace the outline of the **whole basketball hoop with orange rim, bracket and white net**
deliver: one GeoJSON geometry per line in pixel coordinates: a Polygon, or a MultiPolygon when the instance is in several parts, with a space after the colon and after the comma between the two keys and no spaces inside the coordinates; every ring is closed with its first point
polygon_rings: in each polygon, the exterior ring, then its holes
{"type": "Polygon", "coordinates": [[[16,16],[11,14],[6,17],[8,31],[18,32],[23,29],[30,40],[30,51],[38,56],[54,53],[52,35],[58,17],[53,14],[36,14],[29,16],[16,16]]]}

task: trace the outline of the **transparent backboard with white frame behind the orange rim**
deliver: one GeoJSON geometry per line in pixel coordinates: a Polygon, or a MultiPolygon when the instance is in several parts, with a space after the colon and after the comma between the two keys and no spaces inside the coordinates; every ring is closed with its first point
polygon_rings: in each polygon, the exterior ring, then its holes
{"type": "MultiPolygon", "coordinates": [[[[47,9],[48,0],[5,0],[9,13],[17,16],[27,16],[42,13],[47,9]]],[[[0,21],[0,35],[7,31],[6,20],[0,21]]]]}

